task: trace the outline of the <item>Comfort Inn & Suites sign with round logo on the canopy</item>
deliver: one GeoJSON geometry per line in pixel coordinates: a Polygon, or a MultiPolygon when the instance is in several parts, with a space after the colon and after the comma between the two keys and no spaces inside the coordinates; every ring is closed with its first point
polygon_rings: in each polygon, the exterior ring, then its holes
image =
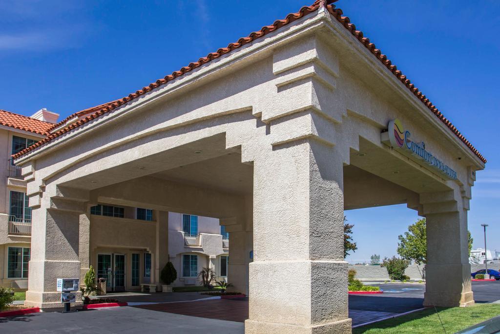
{"type": "Polygon", "coordinates": [[[456,180],[456,172],[432,153],[425,149],[424,142],[414,142],[410,139],[411,133],[404,130],[401,121],[392,120],[388,124],[387,132],[382,133],[382,143],[391,146],[403,155],[413,160],[424,162],[430,169],[439,172],[448,180],[456,180]]]}

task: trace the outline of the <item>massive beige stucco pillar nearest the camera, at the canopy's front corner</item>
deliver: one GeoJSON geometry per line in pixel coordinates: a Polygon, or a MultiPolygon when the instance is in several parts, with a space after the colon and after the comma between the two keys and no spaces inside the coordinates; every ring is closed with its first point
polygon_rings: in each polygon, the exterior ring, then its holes
{"type": "Polygon", "coordinates": [[[342,161],[312,139],[254,160],[246,333],[351,332],[342,161]]]}

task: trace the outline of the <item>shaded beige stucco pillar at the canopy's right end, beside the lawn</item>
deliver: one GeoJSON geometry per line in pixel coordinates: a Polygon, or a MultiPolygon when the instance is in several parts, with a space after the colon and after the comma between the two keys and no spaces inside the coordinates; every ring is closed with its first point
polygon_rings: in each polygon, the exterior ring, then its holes
{"type": "Polygon", "coordinates": [[[424,306],[474,304],[468,263],[467,211],[453,193],[427,194],[424,306]]]}

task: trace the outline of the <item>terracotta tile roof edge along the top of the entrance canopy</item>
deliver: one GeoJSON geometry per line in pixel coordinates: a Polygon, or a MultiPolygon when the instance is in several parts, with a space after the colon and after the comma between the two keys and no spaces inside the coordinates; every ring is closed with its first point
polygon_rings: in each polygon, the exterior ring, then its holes
{"type": "MultiPolygon", "coordinates": [[[[230,43],[226,48],[221,48],[218,49],[216,52],[209,53],[206,57],[200,58],[197,62],[190,63],[187,66],[182,67],[180,70],[173,72],[172,74],[169,74],[165,76],[164,78],[156,80],[156,82],[153,82],[149,84],[148,86],[143,87],[142,89],[136,91],[135,93],[131,93],[128,96],[125,96],[122,99],[115,100],[112,102],[109,102],[107,104],[103,104],[97,107],[86,109],[86,113],[88,116],[85,118],[81,118],[75,123],[72,123],[68,125],[67,127],[54,132],[53,134],[50,134],[47,136],[47,138],[40,140],[39,142],[31,145],[30,147],[27,147],[26,149],[22,150],[21,152],[15,154],[13,158],[18,158],[21,155],[35,149],[36,147],[84,124],[87,123],[91,120],[93,120],[96,117],[99,117],[105,113],[110,112],[113,109],[116,109],[117,107],[169,82],[172,81],[185,73],[192,71],[206,63],[209,63],[213,59],[219,58],[227,53],[230,53],[231,51],[238,49],[248,43],[251,43],[252,41],[259,39],[283,26],[286,26],[304,16],[307,16],[311,13],[314,13],[320,8],[325,8],[328,13],[330,13],[347,31],[349,31],[352,36],[354,36],[362,45],[368,49],[374,57],[376,57],[389,71],[391,71],[394,76],[400,80],[403,85],[408,88],[408,90],[413,93],[442,123],[444,123],[482,162],[486,162],[486,159],[477,151],[477,149],[472,146],[472,144],[458,131],[458,129],[451,124],[451,122],[443,116],[443,114],[423,95],[418,88],[412,84],[405,75],[402,74],[400,70],[397,69],[395,65],[391,63],[390,60],[387,59],[385,55],[382,54],[380,49],[377,49],[373,43],[370,42],[370,40],[366,37],[364,37],[363,32],[356,30],[356,27],[354,24],[350,23],[350,20],[348,17],[342,16],[343,12],[340,9],[335,8],[334,5],[331,5],[332,3],[336,2],[337,0],[316,0],[311,6],[304,6],[302,7],[297,13],[291,13],[288,14],[285,19],[283,20],[277,20],[274,21],[274,23],[270,26],[264,26],[262,27],[259,31],[253,32],[247,37],[240,38],[237,42],[235,43],[230,43]],[[99,110],[99,108],[101,108],[99,110]]],[[[78,112],[78,113],[83,113],[84,111],[78,112]]],[[[76,114],[73,114],[70,116],[71,118],[74,117],[76,114]]],[[[84,115],[83,113],[82,115],[84,115]]],[[[67,119],[66,119],[67,121],[67,119]]],[[[62,124],[62,123],[61,123],[62,124]]],[[[55,128],[55,127],[54,127],[55,128]]]]}

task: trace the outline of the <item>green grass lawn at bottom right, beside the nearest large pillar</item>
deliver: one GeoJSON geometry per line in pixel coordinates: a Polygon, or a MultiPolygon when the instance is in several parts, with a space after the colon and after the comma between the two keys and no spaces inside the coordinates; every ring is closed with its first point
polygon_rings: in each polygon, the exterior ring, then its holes
{"type": "MultiPolygon", "coordinates": [[[[446,333],[454,333],[500,314],[500,304],[476,304],[470,307],[437,307],[446,333]]],[[[357,333],[444,333],[434,308],[353,328],[357,333]]]]}

